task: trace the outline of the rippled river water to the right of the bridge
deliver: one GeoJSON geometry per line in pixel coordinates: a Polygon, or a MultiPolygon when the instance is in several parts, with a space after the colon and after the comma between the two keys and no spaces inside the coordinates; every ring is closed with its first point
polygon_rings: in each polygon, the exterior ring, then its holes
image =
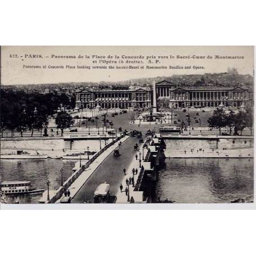
{"type": "Polygon", "coordinates": [[[230,203],[253,195],[253,159],[165,159],[153,200],[230,203]]]}

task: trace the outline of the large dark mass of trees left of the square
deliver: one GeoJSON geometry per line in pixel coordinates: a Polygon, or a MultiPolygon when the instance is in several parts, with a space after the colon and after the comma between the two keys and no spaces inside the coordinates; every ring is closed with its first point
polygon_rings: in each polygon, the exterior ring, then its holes
{"type": "MultiPolygon", "coordinates": [[[[60,104],[66,108],[74,107],[74,103],[65,94],[25,93],[24,91],[0,91],[0,131],[18,131],[23,137],[24,131],[47,129],[48,116],[56,113],[60,104]]],[[[70,118],[69,118],[70,119],[70,118]]]]}

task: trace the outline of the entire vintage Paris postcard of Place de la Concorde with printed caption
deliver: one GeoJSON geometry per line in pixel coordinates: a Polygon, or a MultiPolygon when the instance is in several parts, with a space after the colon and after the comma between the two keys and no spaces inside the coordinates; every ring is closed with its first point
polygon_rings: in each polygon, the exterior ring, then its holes
{"type": "Polygon", "coordinates": [[[254,47],[2,46],[0,103],[1,206],[254,205],[254,47]]]}

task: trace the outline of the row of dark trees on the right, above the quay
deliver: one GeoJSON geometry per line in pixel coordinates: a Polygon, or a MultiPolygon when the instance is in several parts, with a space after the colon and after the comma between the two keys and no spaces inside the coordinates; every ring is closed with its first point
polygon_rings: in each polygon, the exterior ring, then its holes
{"type": "Polygon", "coordinates": [[[245,127],[250,129],[252,134],[253,129],[253,108],[247,107],[245,111],[239,110],[235,113],[232,110],[224,111],[218,108],[213,112],[213,116],[208,119],[209,127],[217,128],[219,135],[221,135],[221,128],[228,127],[230,135],[232,129],[234,130],[233,135],[239,135],[238,131],[242,135],[242,131],[245,127]]]}

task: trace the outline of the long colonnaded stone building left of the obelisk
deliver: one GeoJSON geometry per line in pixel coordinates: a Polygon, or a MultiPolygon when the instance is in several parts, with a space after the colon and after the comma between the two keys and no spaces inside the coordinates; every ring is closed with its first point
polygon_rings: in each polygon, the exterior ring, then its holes
{"type": "Polygon", "coordinates": [[[76,106],[79,108],[93,108],[97,105],[104,109],[151,107],[152,102],[152,91],[148,88],[83,89],[76,94],[76,106]]]}

